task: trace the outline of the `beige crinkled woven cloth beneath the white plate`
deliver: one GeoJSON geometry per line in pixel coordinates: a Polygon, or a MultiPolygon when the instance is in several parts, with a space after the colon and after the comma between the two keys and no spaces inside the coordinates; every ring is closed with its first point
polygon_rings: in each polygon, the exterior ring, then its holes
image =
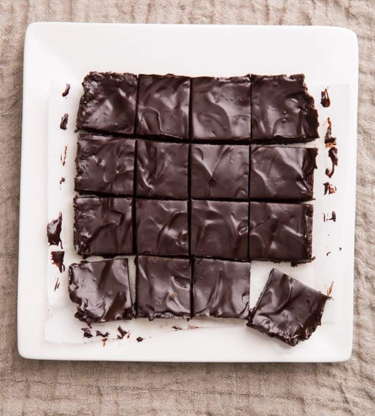
{"type": "Polygon", "coordinates": [[[0,0],[0,414],[374,414],[374,27],[373,0],[0,0]],[[360,94],[355,330],[353,355],[348,362],[142,364],[32,361],[18,356],[23,40],[27,24],[42,20],[338,25],[357,32],[360,94]]]}

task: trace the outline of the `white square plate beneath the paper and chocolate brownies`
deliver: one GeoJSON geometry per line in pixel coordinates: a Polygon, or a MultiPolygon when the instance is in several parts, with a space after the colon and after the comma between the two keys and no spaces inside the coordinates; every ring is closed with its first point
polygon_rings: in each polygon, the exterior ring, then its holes
{"type": "MultiPolygon", "coordinates": [[[[357,142],[358,44],[337,27],[33,23],[26,33],[23,85],[18,350],[34,359],[333,362],[350,357],[357,142]],[[47,305],[47,107],[50,83],[81,82],[91,70],[231,76],[306,74],[309,85],[349,86],[349,130],[343,166],[343,276],[337,319],[289,348],[243,327],[176,331],[124,347],[119,342],[45,341],[47,305]],[[256,335],[254,335],[254,333],[256,335]],[[257,339],[256,344],[252,339],[257,339]],[[271,341],[271,342],[270,342],[271,341]],[[254,347],[257,345],[257,347],[254,347]],[[275,347],[276,346],[276,347],[275,347]]],[[[316,97],[315,97],[316,100],[316,97]]],[[[318,103],[316,103],[318,105],[318,103]]],[[[75,122],[71,115],[70,123],[75,122]]],[[[321,184],[316,184],[321,186],[321,184]]],[[[340,208],[341,209],[341,208],[340,208]]],[[[277,265],[276,265],[277,267],[277,265]]],[[[336,287],[335,287],[336,288],[336,287]]]]}

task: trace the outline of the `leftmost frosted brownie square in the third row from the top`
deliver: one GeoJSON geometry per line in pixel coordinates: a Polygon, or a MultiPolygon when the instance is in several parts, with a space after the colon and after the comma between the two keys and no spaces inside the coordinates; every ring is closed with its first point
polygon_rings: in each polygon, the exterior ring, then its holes
{"type": "Polygon", "coordinates": [[[74,198],[74,247],[84,258],[133,254],[132,199],[74,198]]]}

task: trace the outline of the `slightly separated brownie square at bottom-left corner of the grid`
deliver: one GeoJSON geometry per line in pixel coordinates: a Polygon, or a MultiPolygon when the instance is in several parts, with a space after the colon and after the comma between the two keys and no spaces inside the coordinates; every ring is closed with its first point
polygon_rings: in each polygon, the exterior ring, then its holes
{"type": "Polygon", "coordinates": [[[87,324],[133,317],[127,259],[73,263],[68,290],[75,317],[87,324]]]}

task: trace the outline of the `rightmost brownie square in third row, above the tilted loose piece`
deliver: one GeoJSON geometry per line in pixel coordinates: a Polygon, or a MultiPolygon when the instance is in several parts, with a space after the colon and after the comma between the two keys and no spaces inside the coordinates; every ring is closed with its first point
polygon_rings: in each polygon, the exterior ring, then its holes
{"type": "Polygon", "coordinates": [[[250,202],[249,259],[311,261],[313,206],[250,202]]]}

